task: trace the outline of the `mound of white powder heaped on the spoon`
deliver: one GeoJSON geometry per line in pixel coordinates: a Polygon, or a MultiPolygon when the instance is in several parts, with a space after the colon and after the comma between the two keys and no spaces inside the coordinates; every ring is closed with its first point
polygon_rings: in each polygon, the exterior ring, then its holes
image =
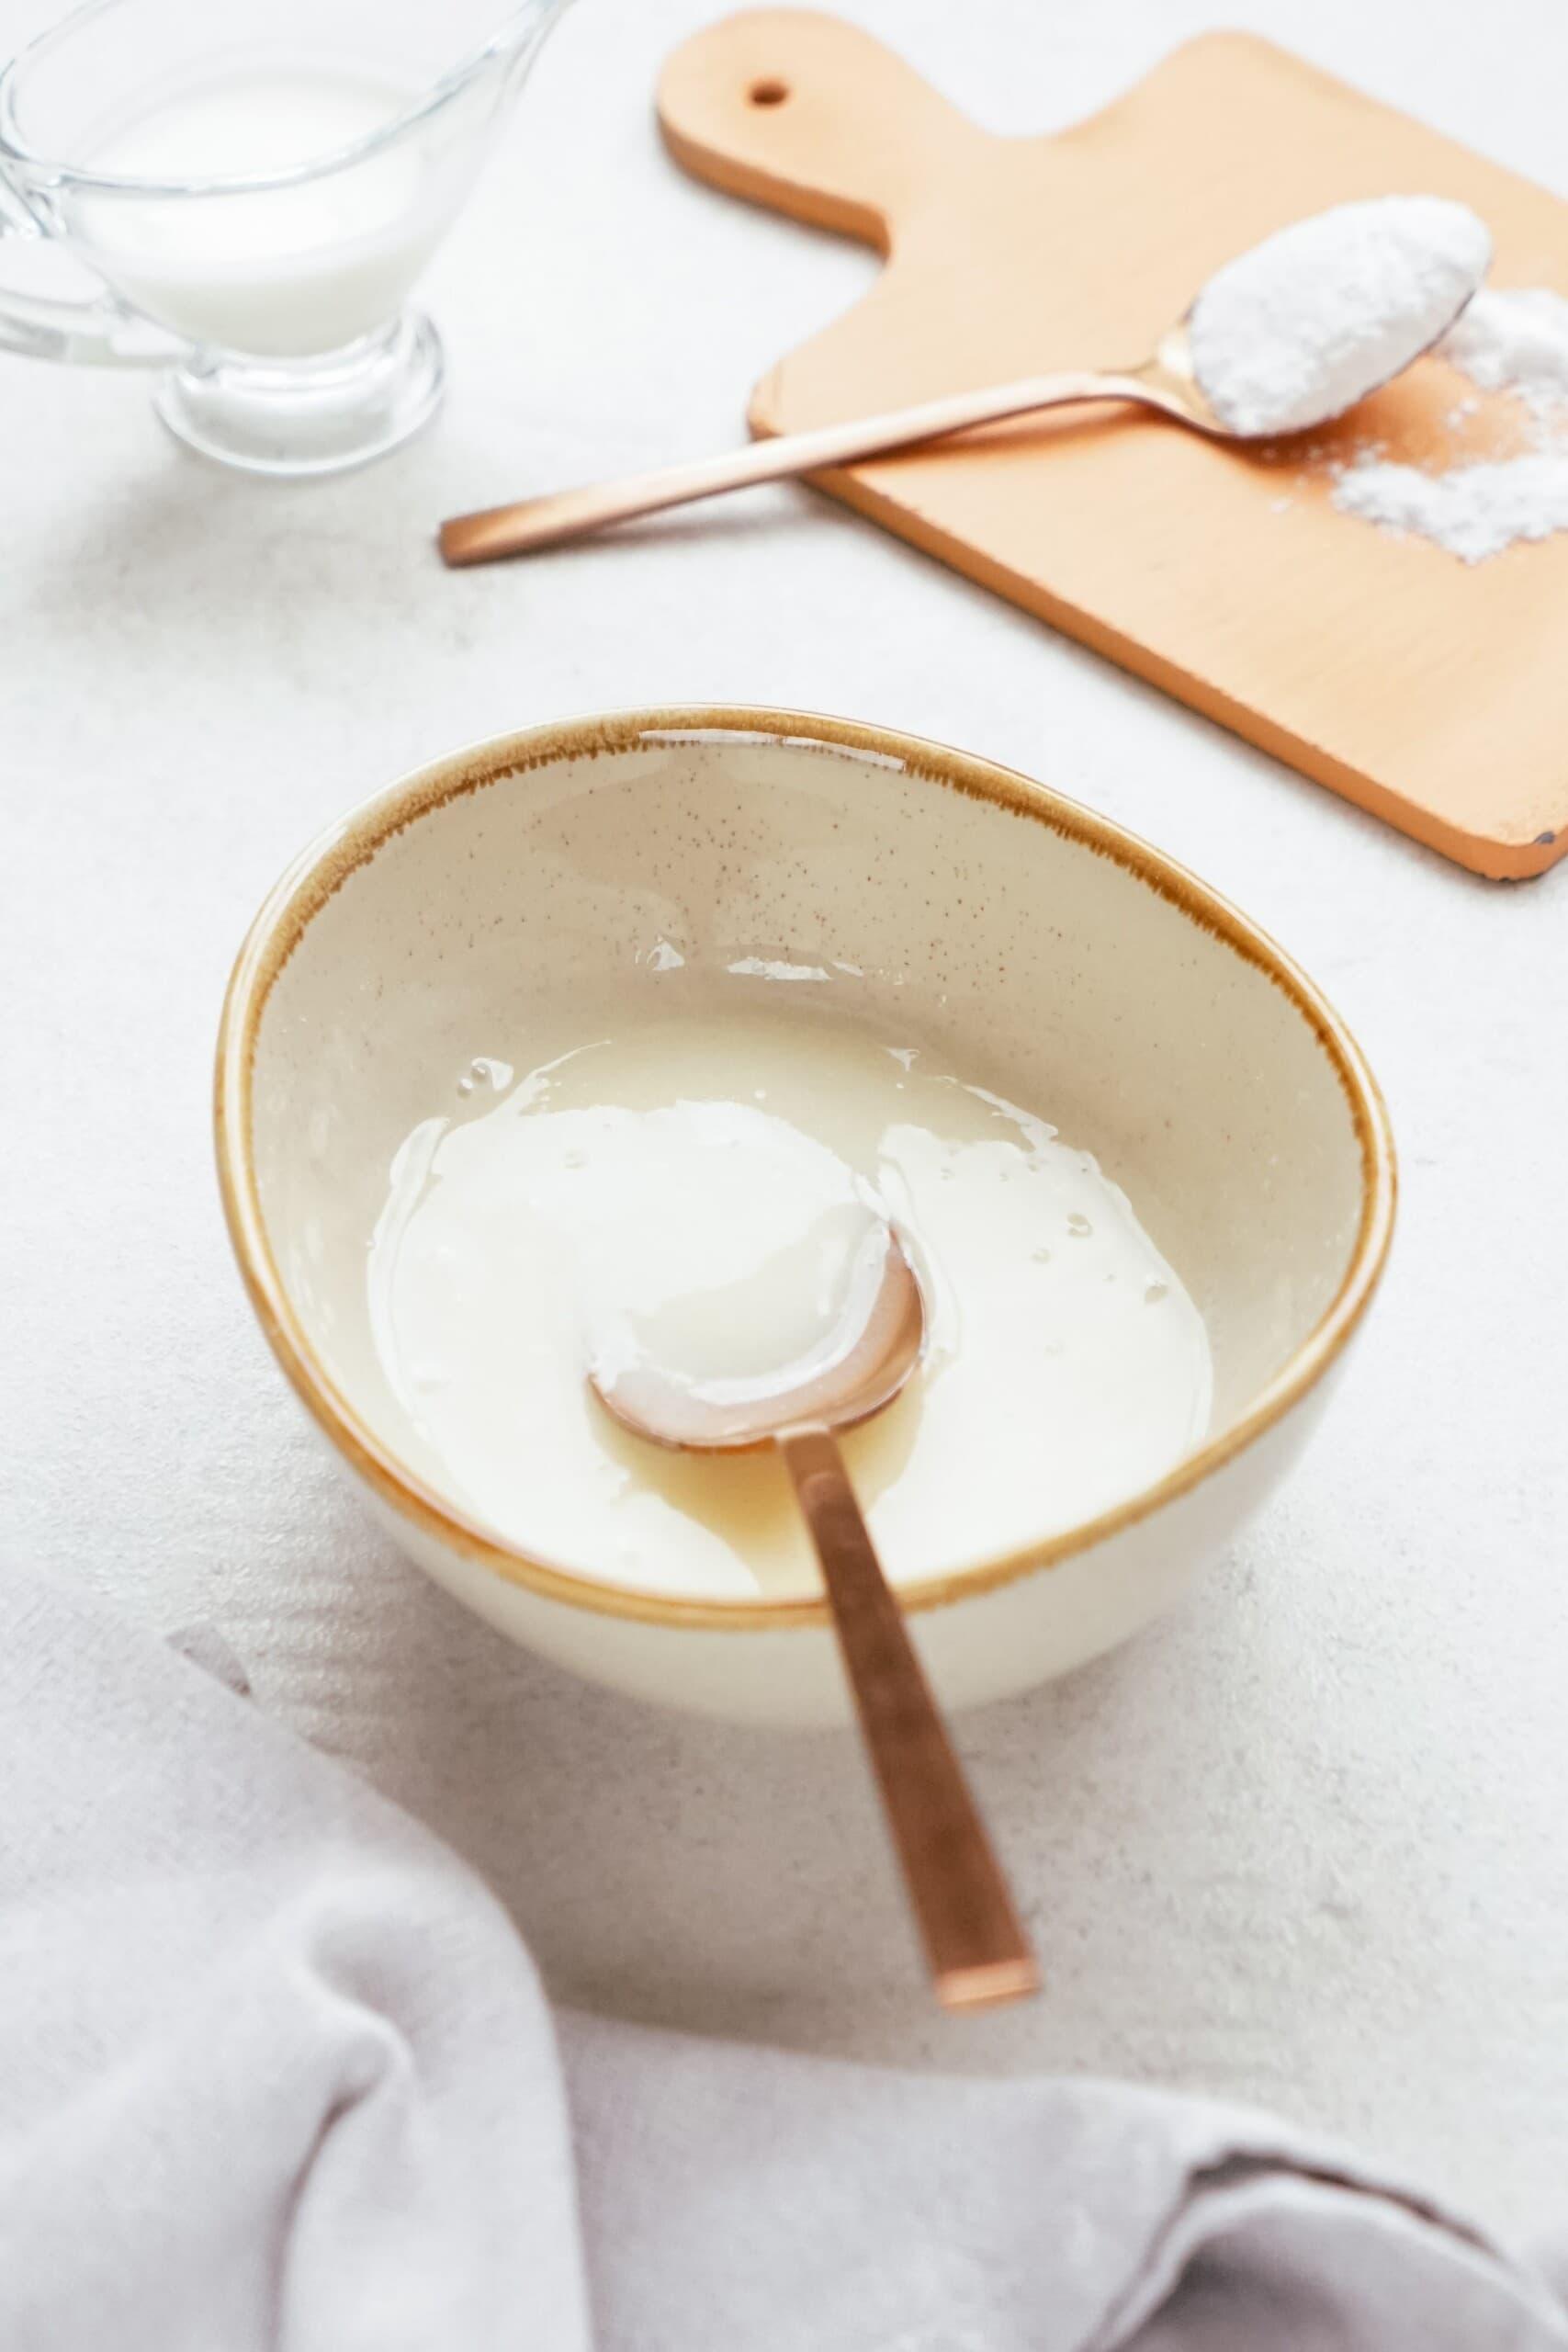
{"type": "Polygon", "coordinates": [[[1192,365],[1232,433],[1340,416],[1453,325],[1490,261],[1486,223],[1441,195],[1385,195],[1295,221],[1192,306],[1192,365]]]}

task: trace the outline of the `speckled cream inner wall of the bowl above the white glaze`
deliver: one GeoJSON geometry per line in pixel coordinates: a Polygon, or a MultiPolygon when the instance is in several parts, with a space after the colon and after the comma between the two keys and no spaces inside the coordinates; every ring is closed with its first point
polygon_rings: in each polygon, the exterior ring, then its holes
{"type": "Polygon", "coordinates": [[[1208,1322],[1211,1446],[1316,1376],[1324,1329],[1359,1312],[1392,1204],[1375,1091],[1302,976],[1190,877],[1023,779],[842,722],[545,729],[334,830],[273,894],[230,993],[240,1256],[296,1385],[397,1508],[473,1536],[371,1345],[364,1249],[393,1152],[473,1054],[527,1061],[541,993],[670,950],[853,967],[867,1018],[947,1042],[1091,1148],[1208,1322]]]}

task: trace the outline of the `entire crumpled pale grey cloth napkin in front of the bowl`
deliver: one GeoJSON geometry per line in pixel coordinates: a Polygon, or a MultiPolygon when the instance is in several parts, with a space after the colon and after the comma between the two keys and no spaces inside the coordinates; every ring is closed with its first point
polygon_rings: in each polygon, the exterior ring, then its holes
{"type": "Polygon", "coordinates": [[[1568,2347],[1267,2117],[552,2018],[484,1886],[181,1646],[0,1578],[5,2352],[1568,2347]]]}

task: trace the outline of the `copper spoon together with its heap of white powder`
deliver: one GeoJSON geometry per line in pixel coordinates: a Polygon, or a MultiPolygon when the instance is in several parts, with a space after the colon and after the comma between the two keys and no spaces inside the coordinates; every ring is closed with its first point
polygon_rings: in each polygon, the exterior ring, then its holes
{"type": "Polygon", "coordinates": [[[1441,195],[1335,205],[1227,261],[1138,367],[1027,376],[858,416],[623,482],[562,489],[442,524],[449,564],[562,546],[693,499],[943,440],[1081,400],[1133,400],[1213,440],[1269,440],[1342,416],[1429,350],[1486,278],[1493,240],[1441,195]]]}

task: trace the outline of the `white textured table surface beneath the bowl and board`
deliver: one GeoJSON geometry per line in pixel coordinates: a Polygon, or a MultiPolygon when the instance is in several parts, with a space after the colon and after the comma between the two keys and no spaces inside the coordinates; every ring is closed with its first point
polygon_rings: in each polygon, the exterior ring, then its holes
{"type": "MultiPolygon", "coordinates": [[[[1018,132],[1211,24],[844,7],[1018,132]]],[[[1472,880],[804,492],[437,567],[442,513],[726,442],[752,376],[870,282],[663,158],[656,66],[712,14],[564,19],[430,273],[451,397],[388,463],[223,475],[134,376],[0,360],[0,1550],[221,1625],[268,1708],[487,1872],[564,1997],[1206,2086],[1505,2227],[1561,2220],[1568,875],[1472,880]],[[966,743],[1150,835],[1328,988],[1403,1145],[1394,1265],[1288,1491],[1182,1613],[964,1726],[1051,1978],[964,2025],[922,1992],[849,1736],[646,1712],[428,1588],[284,1392],[216,1207],[219,997],[294,849],[465,739],[703,696],[966,743]]],[[[1552,0],[1229,21],[1568,183],[1552,0]]]]}

